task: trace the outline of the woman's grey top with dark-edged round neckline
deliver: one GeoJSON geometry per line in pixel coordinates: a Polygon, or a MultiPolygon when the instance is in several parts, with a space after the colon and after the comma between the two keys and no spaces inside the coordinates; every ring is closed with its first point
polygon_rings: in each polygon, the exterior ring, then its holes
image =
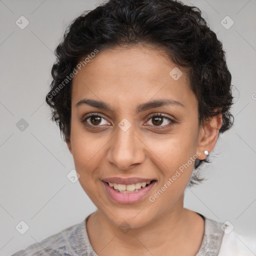
{"type": "MultiPolygon", "coordinates": [[[[217,256],[224,232],[220,222],[204,219],[204,233],[201,246],[195,256],[217,256]]],[[[98,256],[93,250],[87,235],[86,221],[89,215],[80,223],[63,229],[40,241],[19,250],[11,256],[98,256]]]]}

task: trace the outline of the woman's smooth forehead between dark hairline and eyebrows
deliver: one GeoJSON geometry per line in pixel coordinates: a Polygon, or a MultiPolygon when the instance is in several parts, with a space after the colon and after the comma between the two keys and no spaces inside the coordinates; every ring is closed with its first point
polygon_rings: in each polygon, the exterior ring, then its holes
{"type": "Polygon", "coordinates": [[[185,70],[164,51],[141,46],[107,48],[78,70],[71,101],[74,106],[89,97],[125,104],[164,96],[187,106],[197,104],[188,84],[185,70]]]}

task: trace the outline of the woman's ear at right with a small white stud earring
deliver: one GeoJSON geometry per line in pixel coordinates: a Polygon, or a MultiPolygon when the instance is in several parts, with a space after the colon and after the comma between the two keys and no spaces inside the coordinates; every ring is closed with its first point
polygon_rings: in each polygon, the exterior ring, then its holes
{"type": "Polygon", "coordinates": [[[205,121],[199,128],[197,150],[201,154],[197,157],[200,160],[206,158],[205,150],[211,152],[217,142],[219,129],[222,125],[222,114],[215,115],[205,121]]]}

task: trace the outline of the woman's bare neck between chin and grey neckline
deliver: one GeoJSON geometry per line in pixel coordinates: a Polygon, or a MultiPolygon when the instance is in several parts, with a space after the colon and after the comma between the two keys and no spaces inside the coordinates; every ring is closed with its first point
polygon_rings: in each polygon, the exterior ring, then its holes
{"type": "MultiPolygon", "coordinates": [[[[195,253],[199,249],[204,227],[200,228],[197,245],[192,244],[196,241],[194,238],[191,240],[191,237],[198,229],[198,223],[201,224],[202,221],[198,214],[183,208],[182,199],[175,208],[160,212],[146,225],[127,229],[126,232],[120,230],[118,225],[109,221],[99,210],[89,216],[86,227],[90,243],[100,256],[132,255],[134,251],[135,254],[143,255],[149,251],[157,255],[159,251],[166,252],[166,249],[170,251],[170,248],[171,254],[182,255],[181,252],[186,250],[184,247],[187,247],[190,242],[191,246],[195,247],[195,253]]],[[[191,247],[188,251],[191,252],[191,247]]],[[[166,255],[166,253],[163,254],[166,255]]]]}

